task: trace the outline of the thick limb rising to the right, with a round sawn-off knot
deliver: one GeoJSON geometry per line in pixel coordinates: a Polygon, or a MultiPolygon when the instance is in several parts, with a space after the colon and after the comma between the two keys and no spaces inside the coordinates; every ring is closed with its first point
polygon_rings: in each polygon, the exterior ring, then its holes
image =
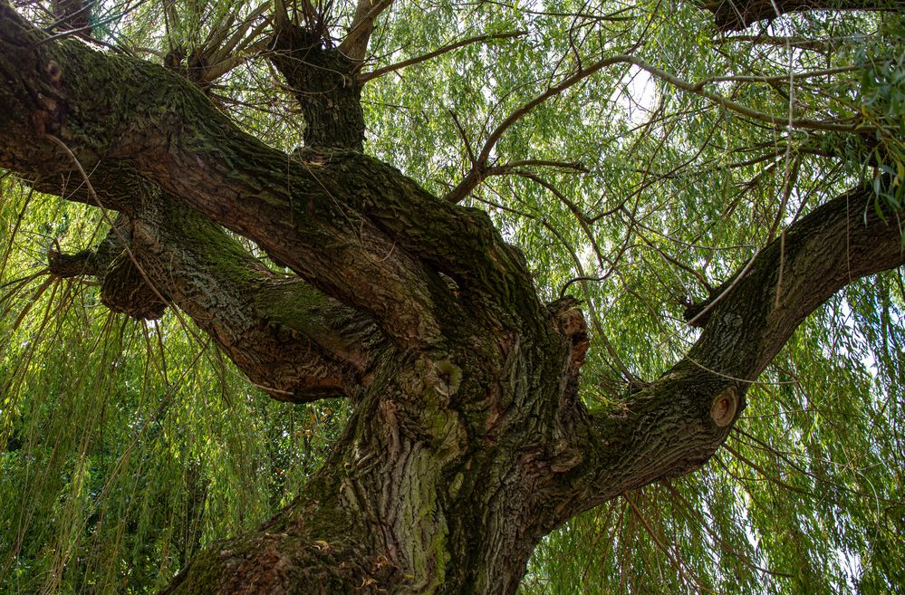
{"type": "Polygon", "coordinates": [[[883,221],[869,187],[852,189],[790,226],[724,287],[688,355],[620,403],[565,403],[563,517],[704,464],[744,408],[746,389],[804,319],[853,280],[905,263],[895,214],[883,221]]]}

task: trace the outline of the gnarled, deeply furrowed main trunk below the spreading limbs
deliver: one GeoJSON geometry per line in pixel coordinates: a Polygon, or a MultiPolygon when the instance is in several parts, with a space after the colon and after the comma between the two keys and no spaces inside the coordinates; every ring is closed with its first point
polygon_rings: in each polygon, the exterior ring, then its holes
{"type": "Polygon", "coordinates": [[[514,593],[556,518],[537,494],[577,462],[550,450],[570,341],[585,345],[572,305],[539,336],[386,353],[294,504],[167,592],[514,593]],[[557,331],[562,321],[573,327],[557,331]]]}

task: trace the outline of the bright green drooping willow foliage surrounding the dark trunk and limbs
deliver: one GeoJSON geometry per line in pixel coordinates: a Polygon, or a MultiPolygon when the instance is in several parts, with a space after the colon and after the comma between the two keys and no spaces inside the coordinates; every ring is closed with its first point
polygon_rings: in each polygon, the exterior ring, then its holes
{"type": "MultiPolygon", "coordinates": [[[[352,9],[331,5],[336,32],[352,9]]],[[[155,62],[181,48],[188,64],[218,28],[238,32],[238,59],[208,82],[211,97],[291,150],[300,124],[258,59],[261,13],[103,4],[94,34],[155,62]]],[[[545,297],[584,301],[582,394],[611,401],[629,374],[656,378],[688,350],[685,304],[814,206],[884,176],[891,189],[878,197],[901,206],[903,23],[803,13],[721,36],[693,3],[398,3],[365,70],[519,34],[369,82],[366,150],[443,195],[509,113],[602,58],[638,61],[517,120],[492,152],[508,175],[467,199],[522,248],[545,297]]],[[[285,504],[323,461],[344,406],[269,400],[173,312],[130,321],[91,283],[48,276],[48,250],[91,246],[109,218],[11,176],[2,184],[0,591],[153,592],[200,547],[285,504]]],[[[905,592],[903,316],[900,270],[837,294],[748,393],[700,473],[624,494],[550,535],[525,595],[905,592]]]]}

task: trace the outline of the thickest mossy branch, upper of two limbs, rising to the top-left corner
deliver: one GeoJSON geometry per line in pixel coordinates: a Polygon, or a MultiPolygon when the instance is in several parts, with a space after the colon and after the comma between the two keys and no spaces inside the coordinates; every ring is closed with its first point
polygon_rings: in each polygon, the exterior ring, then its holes
{"type": "Polygon", "coordinates": [[[48,40],[0,5],[0,167],[53,178],[101,161],[140,175],[366,312],[401,346],[438,341],[473,312],[540,307],[520,255],[480,211],[441,204],[357,151],[291,158],[239,130],[188,82],[128,57],[48,40]],[[53,138],[52,138],[53,135],[53,138]],[[438,317],[438,312],[443,312],[438,317]]]}

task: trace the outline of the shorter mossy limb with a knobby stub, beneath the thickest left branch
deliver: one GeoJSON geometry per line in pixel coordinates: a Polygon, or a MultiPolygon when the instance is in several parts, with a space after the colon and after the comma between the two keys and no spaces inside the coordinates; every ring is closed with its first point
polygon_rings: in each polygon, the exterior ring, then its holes
{"type": "MultiPolygon", "coordinates": [[[[308,401],[367,385],[385,348],[372,321],[307,283],[274,274],[220,226],[148,180],[124,168],[95,171],[92,180],[119,187],[125,194],[115,202],[128,215],[117,217],[96,250],[52,252],[52,274],[96,277],[101,301],[135,318],[178,307],[274,398],[308,401]]],[[[63,197],[99,199],[83,186],[72,191],[63,197]]]]}

